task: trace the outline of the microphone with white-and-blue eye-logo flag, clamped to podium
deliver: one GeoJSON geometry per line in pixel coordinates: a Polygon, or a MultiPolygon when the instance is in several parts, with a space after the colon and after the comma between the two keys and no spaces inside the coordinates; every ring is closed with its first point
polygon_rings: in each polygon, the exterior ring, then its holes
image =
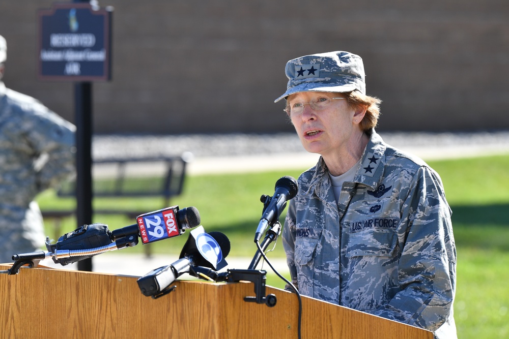
{"type": "Polygon", "coordinates": [[[179,260],[138,278],[138,287],[145,296],[158,298],[171,292],[173,289],[168,289],[169,285],[180,275],[194,272],[194,266],[219,270],[227,265],[224,258],[230,253],[230,240],[226,235],[221,232],[205,233],[202,226],[190,233],[179,260]]]}

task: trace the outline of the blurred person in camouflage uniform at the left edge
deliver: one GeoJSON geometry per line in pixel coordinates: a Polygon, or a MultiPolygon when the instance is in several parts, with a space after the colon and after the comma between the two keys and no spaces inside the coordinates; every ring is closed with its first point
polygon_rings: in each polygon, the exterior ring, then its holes
{"type": "Polygon", "coordinates": [[[0,263],[44,246],[38,193],[74,172],[75,127],[39,101],[6,88],[0,36],[0,263]]]}

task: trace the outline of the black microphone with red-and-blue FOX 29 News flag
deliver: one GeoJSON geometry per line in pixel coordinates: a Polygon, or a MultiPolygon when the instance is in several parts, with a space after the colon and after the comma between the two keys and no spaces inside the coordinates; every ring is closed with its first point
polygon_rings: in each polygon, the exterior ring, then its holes
{"type": "Polygon", "coordinates": [[[135,225],[111,231],[110,237],[116,240],[135,234],[143,244],[147,244],[181,235],[186,229],[199,226],[200,223],[200,212],[196,207],[179,210],[179,206],[173,206],[138,215],[135,225]]]}

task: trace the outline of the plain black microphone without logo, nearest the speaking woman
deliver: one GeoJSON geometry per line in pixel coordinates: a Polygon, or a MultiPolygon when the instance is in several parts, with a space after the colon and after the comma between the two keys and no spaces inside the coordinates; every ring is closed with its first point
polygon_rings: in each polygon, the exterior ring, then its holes
{"type": "Polygon", "coordinates": [[[295,197],[298,191],[297,180],[291,176],[284,176],[276,181],[274,195],[268,206],[263,210],[262,218],[256,233],[254,233],[254,242],[260,241],[267,227],[279,219],[279,215],[285,209],[287,201],[295,197]]]}

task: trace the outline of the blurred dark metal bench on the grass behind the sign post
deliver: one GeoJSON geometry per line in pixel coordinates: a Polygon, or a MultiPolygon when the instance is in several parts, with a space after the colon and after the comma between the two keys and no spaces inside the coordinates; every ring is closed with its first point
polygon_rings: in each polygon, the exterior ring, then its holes
{"type": "MultiPolygon", "coordinates": [[[[184,153],[175,157],[150,157],[127,159],[102,159],[93,162],[93,196],[94,198],[121,197],[162,197],[163,205],[154,206],[153,210],[169,206],[172,197],[182,193],[187,163],[192,155],[184,153]]],[[[75,181],[70,180],[58,191],[59,197],[75,197],[75,181]]],[[[108,205],[110,205],[108,203],[108,205]]],[[[112,201],[111,205],[115,205],[112,201]]],[[[73,210],[42,210],[44,219],[54,220],[55,238],[60,237],[62,218],[75,215],[73,210]]],[[[124,214],[134,219],[149,210],[126,209],[122,206],[95,208],[94,215],[124,214]]],[[[133,222],[134,223],[134,222],[133,222]]],[[[150,256],[150,246],[144,246],[150,256]]]]}

